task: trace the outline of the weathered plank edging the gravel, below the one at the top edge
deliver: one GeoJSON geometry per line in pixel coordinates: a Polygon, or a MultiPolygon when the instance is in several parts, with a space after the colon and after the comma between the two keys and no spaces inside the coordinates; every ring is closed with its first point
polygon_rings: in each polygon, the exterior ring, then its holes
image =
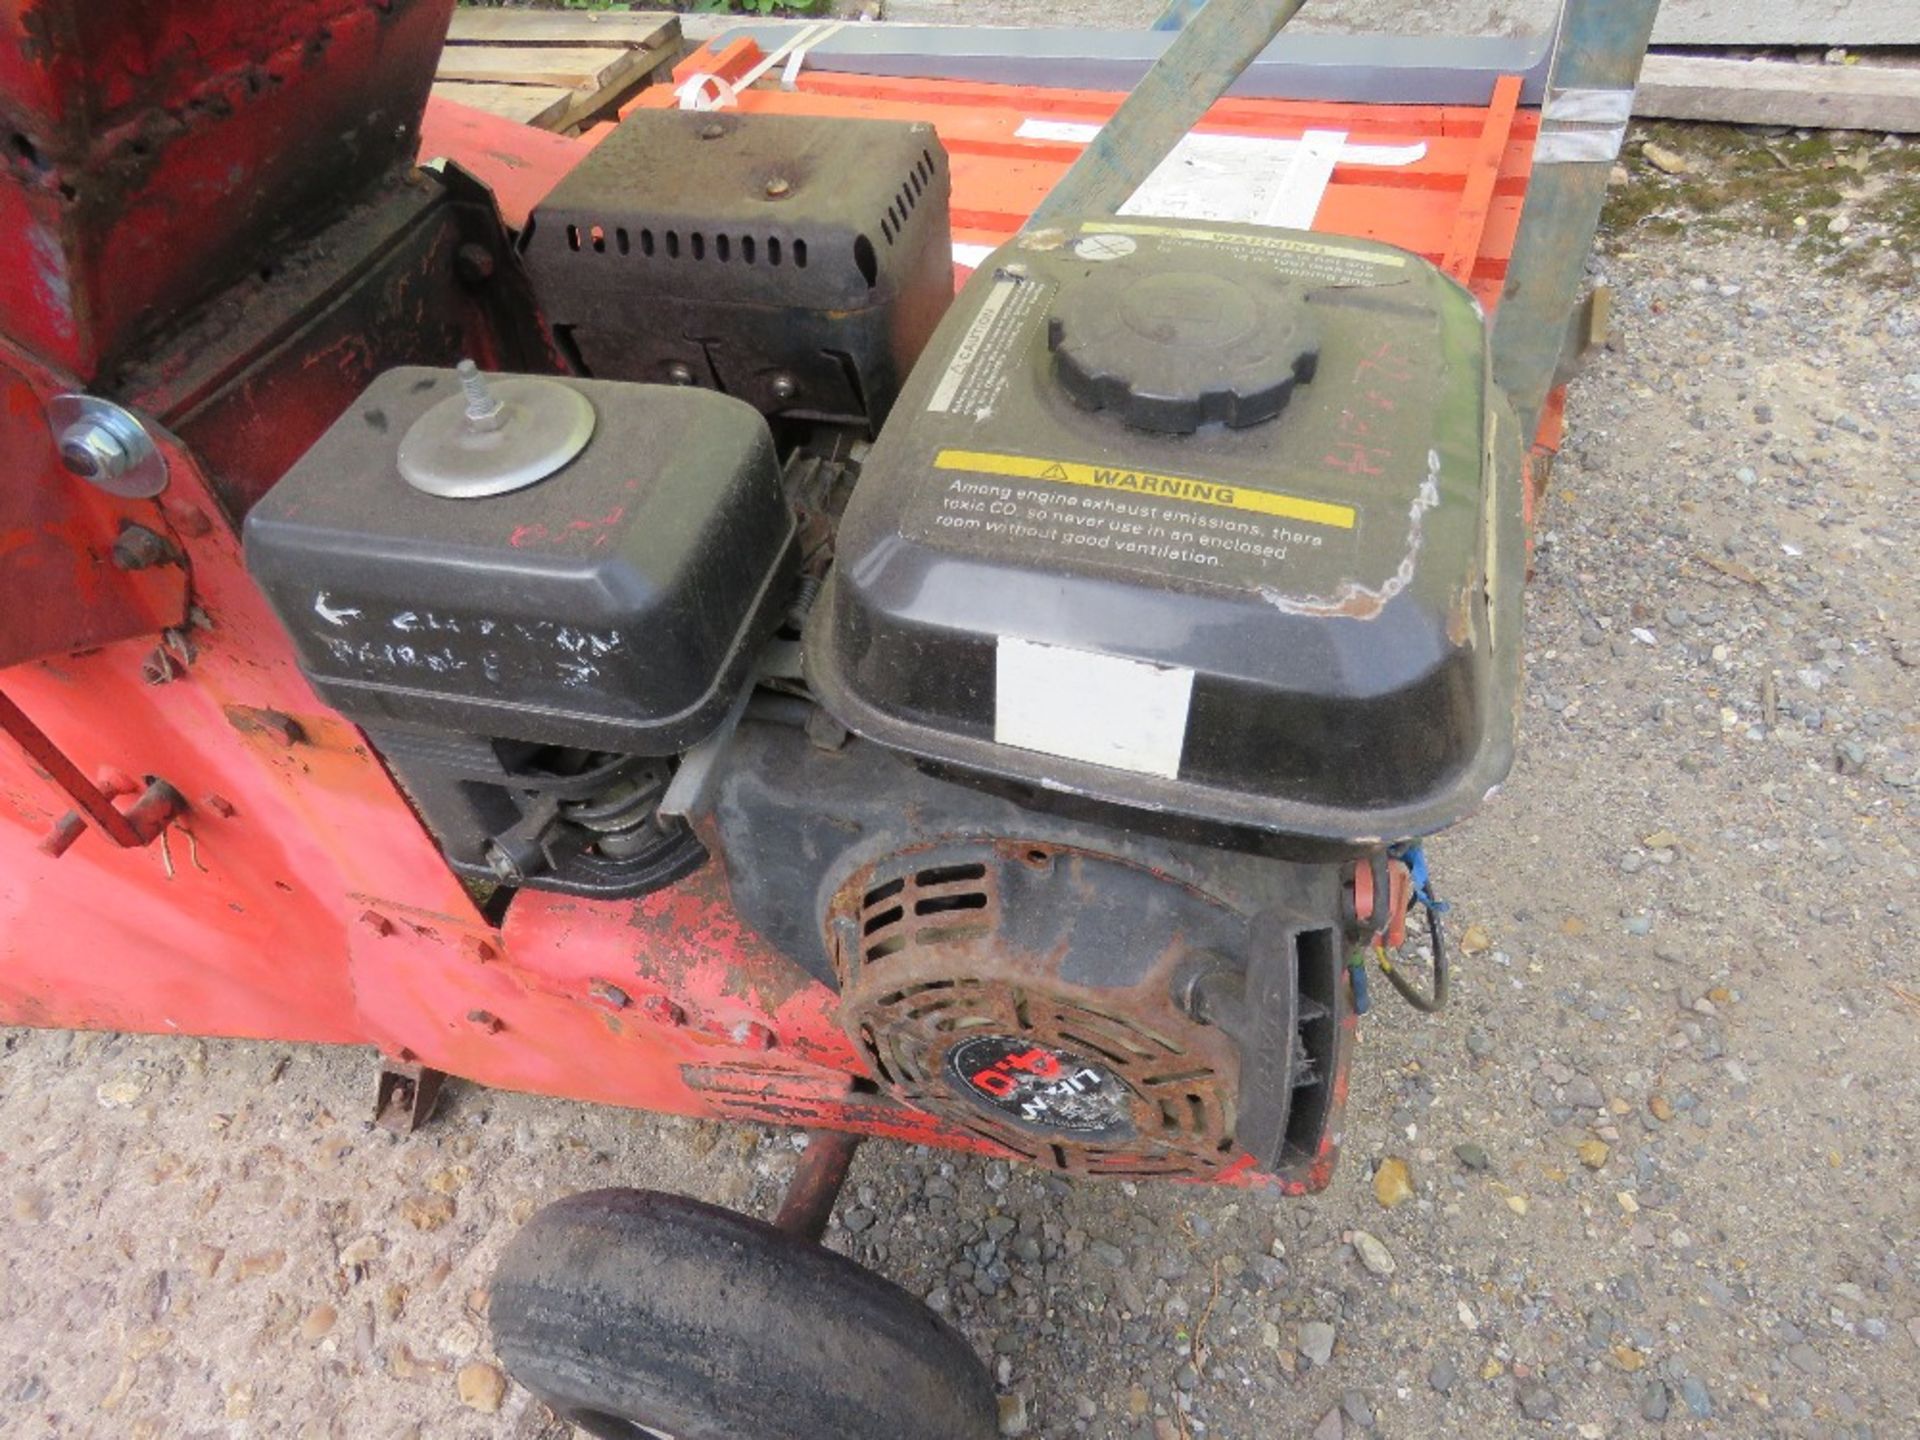
{"type": "Polygon", "coordinates": [[[1634,113],[1732,125],[1920,132],[1920,69],[1647,56],[1634,113]]]}

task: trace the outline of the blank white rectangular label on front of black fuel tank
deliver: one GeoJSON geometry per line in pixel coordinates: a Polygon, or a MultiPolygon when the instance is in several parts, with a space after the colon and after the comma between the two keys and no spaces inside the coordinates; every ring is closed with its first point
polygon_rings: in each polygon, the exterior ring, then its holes
{"type": "Polygon", "coordinates": [[[1000,745],[1173,780],[1194,672],[1002,636],[993,737],[1000,745]]]}

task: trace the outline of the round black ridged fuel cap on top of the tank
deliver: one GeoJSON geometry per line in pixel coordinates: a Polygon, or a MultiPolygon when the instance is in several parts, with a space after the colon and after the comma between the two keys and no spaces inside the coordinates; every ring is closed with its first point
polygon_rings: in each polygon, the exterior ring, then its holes
{"type": "Polygon", "coordinates": [[[1260,424],[1313,378],[1306,290],[1231,259],[1133,253],[1060,286],[1048,317],[1060,386],[1140,430],[1260,424]]]}

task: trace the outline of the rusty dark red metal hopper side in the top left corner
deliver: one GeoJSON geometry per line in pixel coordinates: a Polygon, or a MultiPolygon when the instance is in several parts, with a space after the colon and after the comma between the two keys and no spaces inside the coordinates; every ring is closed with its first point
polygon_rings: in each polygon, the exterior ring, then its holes
{"type": "Polygon", "coordinates": [[[453,0],[0,0],[0,334],[90,384],[403,165],[453,0]]]}

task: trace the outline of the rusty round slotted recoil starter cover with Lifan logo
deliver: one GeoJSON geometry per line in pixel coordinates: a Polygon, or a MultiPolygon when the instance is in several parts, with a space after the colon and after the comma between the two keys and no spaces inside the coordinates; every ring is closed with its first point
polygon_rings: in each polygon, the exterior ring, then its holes
{"type": "Polygon", "coordinates": [[[843,1023],[895,1098],[1035,1165],[1212,1175],[1236,1158],[1238,1056],[1173,1004],[1181,948],[1156,945],[1152,922],[1204,933],[1212,910],[1146,872],[1043,845],[874,870],[841,891],[833,924],[843,1023]],[[1158,893],[1142,904],[1146,887],[1158,893]],[[1144,916],[1146,964],[1081,977],[1081,908],[1144,916]]]}

